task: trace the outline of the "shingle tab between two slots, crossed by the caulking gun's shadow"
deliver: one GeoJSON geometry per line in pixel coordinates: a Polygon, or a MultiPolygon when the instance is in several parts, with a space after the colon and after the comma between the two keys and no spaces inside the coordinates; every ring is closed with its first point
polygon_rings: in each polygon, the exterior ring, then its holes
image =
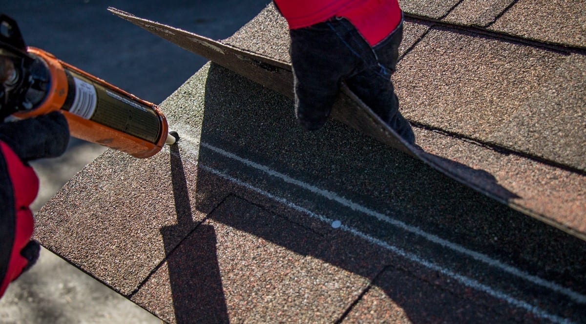
{"type": "Polygon", "coordinates": [[[132,300],[172,323],[334,322],[367,280],[309,257],[322,239],[231,196],[132,300]]]}

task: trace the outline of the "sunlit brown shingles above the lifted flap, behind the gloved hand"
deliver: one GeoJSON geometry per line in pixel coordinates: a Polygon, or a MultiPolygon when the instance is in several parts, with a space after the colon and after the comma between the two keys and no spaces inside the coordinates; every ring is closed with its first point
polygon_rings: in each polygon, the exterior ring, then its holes
{"type": "MultiPolygon", "coordinates": [[[[485,2],[401,5],[408,18],[393,81],[404,116],[421,131],[417,144],[486,171],[493,180],[471,182],[498,183],[510,191],[506,203],[586,238],[586,50],[561,40],[536,42],[540,34],[531,29],[532,39],[491,29],[492,23],[455,25],[446,16],[460,6],[472,15],[468,6],[482,11],[485,2]],[[445,137],[427,141],[428,131],[445,137]]],[[[496,23],[519,4],[494,5],[502,10],[486,12],[496,23]]],[[[570,11],[581,7],[574,2],[570,11]]],[[[570,16],[569,24],[579,29],[583,16],[570,16]]],[[[523,16],[517,19],[523,25],[523,16]]],[[[287,25],[271,7],[224,42],[289,62],[287,25]]]]}

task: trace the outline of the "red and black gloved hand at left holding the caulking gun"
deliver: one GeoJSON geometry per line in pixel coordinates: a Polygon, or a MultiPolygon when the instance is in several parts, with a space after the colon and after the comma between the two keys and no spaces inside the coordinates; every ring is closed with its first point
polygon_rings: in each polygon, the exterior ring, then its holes
{"type": "Polygon", "coordinates": [[[69,126],[59,112],[0,123],[0,297],[39,257],[29,208],[39,179],[28,161],[60,156],[68,143],[69,126]]]}

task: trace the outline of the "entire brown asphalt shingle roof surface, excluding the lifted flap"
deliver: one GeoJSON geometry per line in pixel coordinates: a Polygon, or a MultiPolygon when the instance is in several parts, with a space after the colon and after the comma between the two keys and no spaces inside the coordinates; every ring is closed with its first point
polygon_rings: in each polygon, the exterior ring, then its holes
{"type": "MultiPolygon", "coordinates": [[[[493,29],[523,25],[508,15],[523,1],[401,5],[394,82],[417,143],[584,238],[583,49],[493,29]]],[[[287,62],[286,28],[269,6],[224,42],[287,62]]],[[[147,160],[107,151],[35,235],[163,320],[584,318],[580,239],[343,124],[302,131],[290,99],[218,65],[161,108],[179,144],[147,160]]]]}

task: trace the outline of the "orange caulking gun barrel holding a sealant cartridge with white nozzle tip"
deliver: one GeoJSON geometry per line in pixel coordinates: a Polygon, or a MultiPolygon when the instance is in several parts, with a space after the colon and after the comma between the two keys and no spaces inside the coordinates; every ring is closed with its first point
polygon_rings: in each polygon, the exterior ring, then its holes
{"type": "Polygon", "coordinates": [[[29,118],[59,110],[69,123],[71,136],[137,158],[158,153],[178,136],[168,134],[165,116],[159,107],[110,85],[102,79],[71,66],[52,54],[28,48],[42,60],[50,76],[45,99],[37,107],[13,115],[29,118]]]}

